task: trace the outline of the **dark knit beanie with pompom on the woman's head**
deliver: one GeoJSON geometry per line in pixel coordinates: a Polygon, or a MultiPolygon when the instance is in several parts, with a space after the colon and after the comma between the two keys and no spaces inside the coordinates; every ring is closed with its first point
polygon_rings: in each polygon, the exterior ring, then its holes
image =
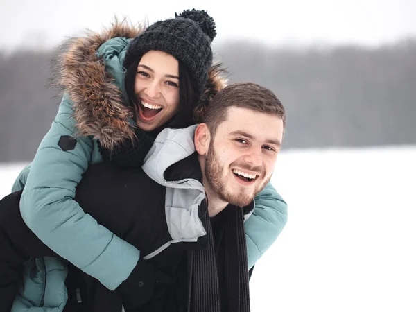
{"type": "Polygon", "coordinates": [[[150,50],[164,51],[183,62],[198,94],[204,91],[212,63],[211,42],[216,36],[215,22],[204,10],[184,10],[175,18],[157,21],[135,37],[125,55],[128,68],[139,56],[150,50]]]}

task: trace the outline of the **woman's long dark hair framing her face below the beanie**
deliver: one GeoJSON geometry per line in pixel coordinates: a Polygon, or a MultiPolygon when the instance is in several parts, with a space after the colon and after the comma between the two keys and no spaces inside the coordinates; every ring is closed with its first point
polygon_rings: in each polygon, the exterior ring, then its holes
{"type": "MultiPolygon", "coordinates": [[[[130,64],[127,71],[125,72],[124,77],[124,85],[125,91],[128,96],[128,105],[138,105],[139,100],[135,94],[135,80],[137,74],[137,65],[141,60],[141,56],[130,64]]],[[[200,94],[196,92],[192,83],[191,83],[191,76],[189,75],[189,71],[187,66],[178,60],[179,62],[179,110],[164,125],[162,125],[162,129],[166,127],[171,128],[186,128],[189,125],[193,125],[195,121],[193,121],[193,110],[198,105],[198,99],[200,98],[200,94]]],[[[162,130],[162,129],[159,129],[162,130]]],[[[158,132],[159,132],[158,131],[158,132]]]]}

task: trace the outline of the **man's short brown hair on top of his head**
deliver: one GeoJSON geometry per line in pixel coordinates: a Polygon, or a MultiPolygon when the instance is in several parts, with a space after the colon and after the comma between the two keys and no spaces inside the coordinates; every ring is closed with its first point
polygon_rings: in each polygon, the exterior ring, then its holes
{"type": "Polygon", "coordinates": [[[218,125],[227,119],[229,107],[276,115],[286,125],[285,109],[270,89],[255,83],[235,83],[218,92],[207,107],[204,122],[207,123],[211,135],[214,136],[218,125]]]}

